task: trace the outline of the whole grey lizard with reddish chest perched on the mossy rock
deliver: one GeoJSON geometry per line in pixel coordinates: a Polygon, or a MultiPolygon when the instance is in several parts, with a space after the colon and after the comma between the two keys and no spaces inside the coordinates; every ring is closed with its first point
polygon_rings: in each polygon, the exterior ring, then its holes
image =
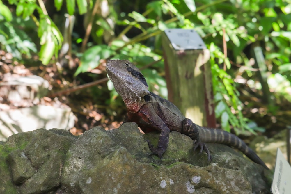
{"type": "Polygon", "coordinates": [[[200,154],[206,152],[208,162],[212,158],[205,143],[221,143],[239,149],[249,159],[268,169],[259,156],[234,134],[201,127],[185,118],[173,103],[150,92],[145,77],[129,60],[108,60],[106,72],[127,107],[123,124],[135,122],[144,133],[160,132],[157,147],[146,140],[150,155],[157,155],[162,160],[168,147],[170,131],[177,131],[194,141],[194,150],[200,147],[200,154]]]}

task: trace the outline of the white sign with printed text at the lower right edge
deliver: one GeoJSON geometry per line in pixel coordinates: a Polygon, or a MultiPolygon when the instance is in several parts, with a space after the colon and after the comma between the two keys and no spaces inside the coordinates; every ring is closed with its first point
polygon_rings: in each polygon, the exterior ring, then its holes
{"type": "Polygon", "coordinates": [[[291,193],[291,167],[279,148],[277,149],[271,192],[273,194],[291,193]]]}

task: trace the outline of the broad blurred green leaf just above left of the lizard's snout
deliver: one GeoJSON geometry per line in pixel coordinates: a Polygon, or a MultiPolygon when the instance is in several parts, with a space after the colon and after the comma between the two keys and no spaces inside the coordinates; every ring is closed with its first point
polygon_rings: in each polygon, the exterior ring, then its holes
{"type": "Polygon", "coordinates": [[[87,49],[81,57],[80,66],[76,70],[74,76],[81,72],[87,72],[99,65],[100,59],[109,58],[115,52],[108,48],[107,45],[97,45],[87,49]]]}

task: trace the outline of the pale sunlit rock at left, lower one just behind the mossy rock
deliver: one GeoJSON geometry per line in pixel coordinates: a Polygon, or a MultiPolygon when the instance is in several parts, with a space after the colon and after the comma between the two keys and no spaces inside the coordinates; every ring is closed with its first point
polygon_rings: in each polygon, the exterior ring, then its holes
{"type": "Polygon", "coordinates": [[[6,141],[13,134],[39,128],[58,127],[69,130],[74,127],[74,124],[74,113],[70,107],[65,105],[54,107],[38,104],[0,111],[0,141],[6,141]]]}

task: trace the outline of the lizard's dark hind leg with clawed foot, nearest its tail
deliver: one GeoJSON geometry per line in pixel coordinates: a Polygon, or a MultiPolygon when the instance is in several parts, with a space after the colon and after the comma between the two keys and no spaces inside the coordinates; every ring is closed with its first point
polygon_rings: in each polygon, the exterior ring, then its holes
{"type": "Polygon", "coordinates": [[[207,148],[207,146],[205,145],[205,143],[200,141],[199,138],[199,131],[197,129],[197,126],[195,123],[193,123],[190,119],[185,118],[182,121],[182,134],[185,134],[187,136],[189,136],[191,139],[194,140],[194,150],[196,150],[197,147],[200,147],[200,154],[203,152],[206,152],[207,156],[208,156],[208,162],[211,162],[211,155],[210,152],[207,148]]]}

